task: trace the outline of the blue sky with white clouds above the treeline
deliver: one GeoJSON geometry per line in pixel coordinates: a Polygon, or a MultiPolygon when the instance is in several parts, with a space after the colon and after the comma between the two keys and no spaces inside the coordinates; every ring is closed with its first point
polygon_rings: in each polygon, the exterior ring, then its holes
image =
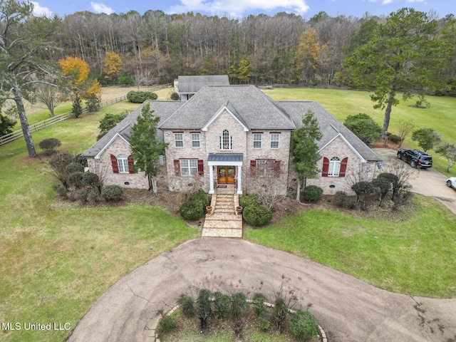
{"type": "Polygon", "coordinates": [[[57,14],[62,18],[76,11],[121,14],[135,10],[144,14],[151,9],[161,10],[166,14],[192,11],[238,19],[250,14],[274,16],[277,12],[285,11],[311,19],[320,11],[325,11],[330,16],[343,14],[361,17],[366,12],[371,15],[388,16],[403,7],[413,7],[417,11],[426,13],[434,10],[440,18],[447,14],[456,15],[456,0],[39,0],[31,2],[35,5],[36,16],[57,14]]]}

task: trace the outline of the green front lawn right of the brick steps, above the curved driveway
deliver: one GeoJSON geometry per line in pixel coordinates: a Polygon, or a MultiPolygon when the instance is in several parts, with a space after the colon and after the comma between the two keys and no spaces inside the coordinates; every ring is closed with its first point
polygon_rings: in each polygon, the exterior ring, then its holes
{"type": "Polygon", "coordinates": [[[244,239],[307,257],[403,294],[456,296],[456,217],[430,197],[416,195],[408,219],[357,218],[311,209],[244,239]]]}

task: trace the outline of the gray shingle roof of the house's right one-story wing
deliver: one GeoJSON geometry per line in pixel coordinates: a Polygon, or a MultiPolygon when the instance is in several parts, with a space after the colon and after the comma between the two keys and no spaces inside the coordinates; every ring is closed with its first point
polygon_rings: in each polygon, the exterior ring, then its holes
{"type": "Polygon", "coordinates": [[[307,110],[312,110],[314,112],[321,133],[323,133],[323,138],[318,142],[318,147],[324,147],[340,133],[365,160],[382,160],[382,158],[378,157],[378,155],[361,141],[360,138],[318,103],[314,101],[279,101],[277,103],[290,115],[296,127],[302,125],[302,119],[304,118],[304,115],[306,115],[307,110]]]}

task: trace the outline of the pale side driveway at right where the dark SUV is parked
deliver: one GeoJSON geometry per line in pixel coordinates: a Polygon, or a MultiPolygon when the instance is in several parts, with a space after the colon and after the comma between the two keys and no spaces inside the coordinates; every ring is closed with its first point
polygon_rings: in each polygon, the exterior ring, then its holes
{"type": "MultiPolygon", "coordinates": [[[[403,160],[398,160],[398,152],[395,150],[389,148],[374,148],[373,150],[379,157],[383,158],[382,167],[387,167],[388,164],[395,162],[395,160],[405,163],[403,160]]],[[[408,164],[405,163],[405,165],[408,164]]],[[[415,170],[415,175],[409,180],[410,184],[413,186],[412,191],[438,199],[456,214],[456,191],[447,187],[446,180],[448,177],[432,168],[413,170],[415,170]]]]}

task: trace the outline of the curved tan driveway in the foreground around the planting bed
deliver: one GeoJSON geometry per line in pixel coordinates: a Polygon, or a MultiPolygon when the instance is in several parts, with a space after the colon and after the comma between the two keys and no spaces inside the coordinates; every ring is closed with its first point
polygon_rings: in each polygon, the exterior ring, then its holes
{"type": "Polygon", "coordinates": [[[185,242],[120,279],[69,341],[152,341],[152,323],[190,286],[223,281],[229,292],[272,294],[282,276],[300,289],[301,306],[311,304],[328,341],[456,341],[456,299],[393,294],[308,259],[223,238],[185,242]]]}

